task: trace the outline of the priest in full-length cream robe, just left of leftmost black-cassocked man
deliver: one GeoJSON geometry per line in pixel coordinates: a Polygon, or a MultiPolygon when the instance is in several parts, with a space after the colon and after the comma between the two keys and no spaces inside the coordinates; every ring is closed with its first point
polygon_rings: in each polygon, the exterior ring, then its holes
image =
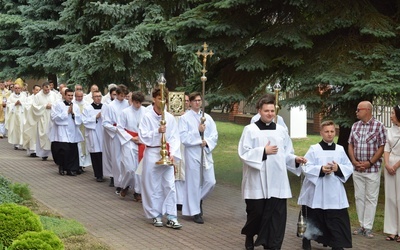
{"type": "Polygon", "coordinates": [[[37,93],[33,99],[32,112],[37,122],[37,140],[36,140],[36,155],[47,160],[51,154],[51,142],[48,137],[48,132],[52,126],[50,119],[51,106],[56,104],[58,95],[50,91],[48,82],[42,84],[42,90],[37,93]]]}

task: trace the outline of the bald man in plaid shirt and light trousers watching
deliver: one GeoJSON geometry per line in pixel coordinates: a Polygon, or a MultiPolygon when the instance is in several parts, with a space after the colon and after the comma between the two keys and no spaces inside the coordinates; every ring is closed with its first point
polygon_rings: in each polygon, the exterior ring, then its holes
{"type": "Polygon", "coordinates": [[[354,235],[373,238],[372,226],[378,203],[383,149],[386,143],[384,125],[372,117],[372,104],[360,102],[356,115],[358,122],[351,128],[349,157],[354,166],[354,196],[360,228],[354,235]]]}

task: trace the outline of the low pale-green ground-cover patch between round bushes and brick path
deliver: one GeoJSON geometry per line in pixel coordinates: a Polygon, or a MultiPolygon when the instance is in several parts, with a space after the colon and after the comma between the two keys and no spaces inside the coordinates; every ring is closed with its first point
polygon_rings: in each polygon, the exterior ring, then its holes
{"type": "Polygon", "coordinates": [[[40,221],[44,229],[54,232],[60,238],[83,235],[86,233],[83,225],[76,220],[40,216],[40,221]]]}

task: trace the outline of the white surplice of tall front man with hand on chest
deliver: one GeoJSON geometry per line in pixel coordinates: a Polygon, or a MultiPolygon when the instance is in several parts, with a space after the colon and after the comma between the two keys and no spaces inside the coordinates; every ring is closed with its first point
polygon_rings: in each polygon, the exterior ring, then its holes
{"type": "Polygon", "coordinates": [[[276,130],[260,130],[255,123],[247,125],[238,146],[243,162],[243,199],[287,199],[292,197],[287,170],[300,175],[296,168],[292,141],[284,127],[276,130]],[[278,146],[278,152],[263,159],[265,146],[278,146]]]}

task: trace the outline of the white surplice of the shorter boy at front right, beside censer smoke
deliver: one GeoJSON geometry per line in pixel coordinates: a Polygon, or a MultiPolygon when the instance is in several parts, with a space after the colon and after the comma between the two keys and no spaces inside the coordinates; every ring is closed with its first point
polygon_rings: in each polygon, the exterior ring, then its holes
{"type": "Polygon", "coordinates": [[[304,156],[307,164],[302,166],[305,175],[298,204],[310,208],[343,209],[349,207],[343,183],[353,173],[353,165],[343,147],[335,145],[335,150],[323,150],[320,144],[310,147],[304,156]],[[335,161],[343,177],[334,173],[320,177],[322,165],[335,161]]]}

